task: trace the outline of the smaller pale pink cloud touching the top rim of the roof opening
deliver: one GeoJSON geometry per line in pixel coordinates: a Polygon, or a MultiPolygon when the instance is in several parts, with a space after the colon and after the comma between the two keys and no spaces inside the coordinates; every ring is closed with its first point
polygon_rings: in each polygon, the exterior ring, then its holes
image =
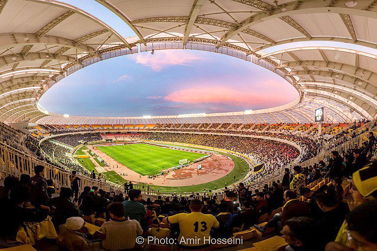
{"type": "Polygon", "coordinates": [[[160,72],[170,65],[189,65],[190,62],[201,59],[184,50],[157,50],[154,54],[137,53],[134,55],[136,63],[151,67],[160,72]]]}

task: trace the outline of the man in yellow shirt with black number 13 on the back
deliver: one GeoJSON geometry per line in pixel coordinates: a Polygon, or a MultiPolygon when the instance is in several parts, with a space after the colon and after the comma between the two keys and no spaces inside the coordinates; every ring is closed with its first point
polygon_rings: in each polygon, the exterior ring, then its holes
{"type": "Polygon", "coordinates": [[[203,204],[199,200],[190,203],[191,213],[180,213],[163,219],[164,223],[178,223],[180,235],[178,247],[182,249],[204,249],[210,246],[211,228],[219,226],[215,216],[201,213],[203,204]]]}

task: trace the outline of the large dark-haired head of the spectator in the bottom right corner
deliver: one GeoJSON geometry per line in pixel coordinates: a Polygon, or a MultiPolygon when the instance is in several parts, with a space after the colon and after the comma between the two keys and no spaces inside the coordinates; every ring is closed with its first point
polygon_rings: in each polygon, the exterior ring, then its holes
{"type": "MultiPolygon", "coordinates": [[[[376,251],[377,250],[377,200],[367,201],[346,217],[345,230],[348,242],[330,242],[325,251],[376,251]]],[[[343,227],[343,226],[342,226],[343,227]]]]}

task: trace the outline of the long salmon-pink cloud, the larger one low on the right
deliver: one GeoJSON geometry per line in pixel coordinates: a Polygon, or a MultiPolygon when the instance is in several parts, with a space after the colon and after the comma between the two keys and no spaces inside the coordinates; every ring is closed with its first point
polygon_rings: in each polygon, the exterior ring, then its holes
{"type": "MultiPolygon", "coordinates": [[[[197,86],[175,91],[164,97],[167,101],[193,103],[222,103],[239,106],[271,106],[271,103],[279,101],[292,101],[291,97],[286,97],[278,93],[255,93],[235,90],[223,86],[197,86]]],[[[273,106],[273,105],[272,105],[273,106]]]]}

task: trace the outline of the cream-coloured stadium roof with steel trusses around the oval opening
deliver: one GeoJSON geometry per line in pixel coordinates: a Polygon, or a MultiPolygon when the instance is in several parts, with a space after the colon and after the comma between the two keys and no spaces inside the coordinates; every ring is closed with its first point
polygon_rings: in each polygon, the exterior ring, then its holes
{"type": "MultiPolygon", "coordinates": [[[[376,55],[346,47],[263,51],[303,41],[377,49],[374,0],[97,1],[129,25],[135,37],[124,39],[88,13],[54,0],[0,0],[1,121],[37,121],[48,113],[37,108],[37,100],[63,77],[103,59],[152,49],[206,50],[251,61],[286,79],[300,96],[251,114],[193,116],[196,120],[244,116],[252,123],[308,123],[321,106],[334,123],[376,116],[376,55]]],[[[68,122],[54,117],[40,122],[68,122]]],[[[174,117],[180,121],[179,116],[152,119],[174,117]]]]}

